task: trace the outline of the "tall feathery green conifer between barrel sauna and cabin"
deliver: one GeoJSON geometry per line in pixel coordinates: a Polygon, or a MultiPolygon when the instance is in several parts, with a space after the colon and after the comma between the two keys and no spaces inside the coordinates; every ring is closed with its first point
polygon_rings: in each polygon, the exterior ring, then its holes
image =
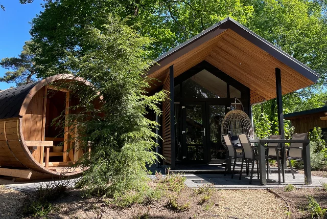
{"type": "MultiPolygon", "coordinates": [[[[77,165],[87,168],[79,181],[85,191],[106,191],[117,196],[127,190],[139,192],[147,181],[146,164],[153,164],[157,154],[153,151],[153,129],[157,123],[145,117],[148,111],[160,115],[157,104],[166,98],[161,91],[147,96],[145,89],[150,80],[144,70],[151,63],[145,59],[143,48],[150,42],[121,23],[106,17],[109,25],[100,29],[87,26],[79,41],[87,52],[81,56],[66,52],[62,65],[65,72],[84,78],[87,83],[68,83],[72,98],[80,99],[73,110],[78,114],[64,114],[57,125],[75,127],[79,135],[72,142],[79,142],[87,151],[77,165]],[[90,149],[90,150],[89,150],[90,149]]],[[[52,67],[54,72],[57,67],[52,67]]],[[[57,84],[58,85],[58,84],[57,84]]],[[[58,86],[59,86],[58,85],[58,86]]]]}

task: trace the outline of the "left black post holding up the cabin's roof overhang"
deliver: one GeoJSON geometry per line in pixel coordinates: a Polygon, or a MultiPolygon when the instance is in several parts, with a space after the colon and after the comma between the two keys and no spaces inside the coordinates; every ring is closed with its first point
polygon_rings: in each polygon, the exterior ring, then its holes
{"type": "Polygon", "coordinates": [[[169,67],[170,91],[170,156],[171,168],[175,169],[175,112],[174,112],[174,65],[169,67]]]}

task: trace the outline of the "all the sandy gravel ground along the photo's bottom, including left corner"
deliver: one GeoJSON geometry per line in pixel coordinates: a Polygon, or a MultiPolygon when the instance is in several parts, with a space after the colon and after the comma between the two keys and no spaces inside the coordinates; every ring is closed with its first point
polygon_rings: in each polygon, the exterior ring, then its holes
{"type": "MultiPolygon", "coordinates": [[[[290,204],[291,218],[311,218],[307,209],[307,195],[312,195],[318,203],[327,208],[327,192],[322,188],[296,189],[284,192],[275,189],[290,204]]],[[[133,205],[119,209],[108,200],[94,197],[82,198],[80,190],[69,191],[68,196],[54,203],[48,218],[138,218],[148,213],[148,218],[285,218],[286,203],[267,190],[215,190],[212,198],[199,204],[201,195],[195,195],[194,189],[185,188],[181,192],[179,204],[190,202],[190,209],[177,212],[168,204],[168,198],[148,205],[133,205]]],[[[26,194],[0,187],[0,218],[24,218],[20,210],[26,194]]],[[[142,217],[140,217],[142,218],[142,217]]]]}

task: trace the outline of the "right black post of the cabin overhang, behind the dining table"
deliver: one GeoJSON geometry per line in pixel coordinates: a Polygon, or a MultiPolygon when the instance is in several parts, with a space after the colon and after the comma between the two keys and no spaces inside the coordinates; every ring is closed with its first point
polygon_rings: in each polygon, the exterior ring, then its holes
{"type": "MultiPolygon", "coordinates": [[[[275,68],[275,75],[276,75],[276,99],[277,99],[278,129],[279,129],[279,135],[282,136],[282,139],[285,139],[281,70],[278,68],[275,68]]],[[[282,157],[281,157],[283,183],[285,183],[284,169],[285,169],[285,163],[286,163],[284,157],[285,157],[285,144],[283,144],[282,157]]]]}

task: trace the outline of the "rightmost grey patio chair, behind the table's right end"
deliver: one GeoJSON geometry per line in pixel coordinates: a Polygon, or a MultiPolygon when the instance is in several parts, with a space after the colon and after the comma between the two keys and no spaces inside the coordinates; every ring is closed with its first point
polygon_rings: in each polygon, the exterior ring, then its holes
{"type": "MultiPolygon", "coordinates": [[[[308,136],[308,133],[294,133],[292,136],[292,139],[294,140],[306,140],[308,136]]],[[[302,143],[291,143],[290,148],[287,148],[287,154],[285,158],[288,160],[292,172],[293,179],[295,180],[293,167],[291,160],[297,160],[297,161],[303,161],[303,144],[302,143]],[[298,148],[291,148],[291,147],[298,147],[298,148]]]]}

